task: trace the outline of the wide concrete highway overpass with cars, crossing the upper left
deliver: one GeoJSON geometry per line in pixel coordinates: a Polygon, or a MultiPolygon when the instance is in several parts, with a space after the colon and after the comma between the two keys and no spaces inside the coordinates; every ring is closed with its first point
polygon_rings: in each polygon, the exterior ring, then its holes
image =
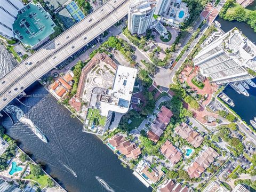
{"type": "Polygon", "coordinates": [[[0,111],[29,85],[121,20],[128,7],[129,0],[110,0],[23,60],[0,80],[0,111]]]}

